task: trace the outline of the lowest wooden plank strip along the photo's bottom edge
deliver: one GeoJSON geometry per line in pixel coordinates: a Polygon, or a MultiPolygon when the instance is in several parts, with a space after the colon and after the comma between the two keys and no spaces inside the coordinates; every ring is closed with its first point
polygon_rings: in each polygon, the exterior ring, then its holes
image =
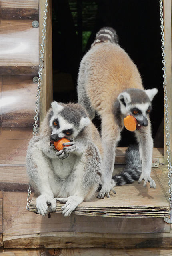
{"type": "Polygon", "coordinates": [[[110,249],[110,248],[42,248],[42,249],[0,249],[4,256],[170,256],[171,248],[140,248],[140,249],[110,249]]]}

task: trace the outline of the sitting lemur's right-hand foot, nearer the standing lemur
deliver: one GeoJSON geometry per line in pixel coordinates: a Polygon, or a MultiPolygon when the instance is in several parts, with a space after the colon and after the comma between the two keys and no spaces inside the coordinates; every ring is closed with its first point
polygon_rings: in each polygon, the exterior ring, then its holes
{"type": "Polygon", "coordinates": [[[83,202],[83,198],[80,196],[69,196],[66,198],[55,197],[54,200],[64,204],[64,206],[62,206],[62,214],[64,214],[64,217],[69,216],[73,210],[83,202]]]}

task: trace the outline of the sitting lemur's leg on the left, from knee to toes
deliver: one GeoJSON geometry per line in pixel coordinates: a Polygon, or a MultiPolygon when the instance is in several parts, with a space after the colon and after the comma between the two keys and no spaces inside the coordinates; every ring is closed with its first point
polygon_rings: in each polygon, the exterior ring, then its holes
{"type": "Polygon", "coordinates": [[[35,184],[38,188],[40,194],[36,199],[38,213],[45,216],[48,210],[51,212],[56,210],[56,201],[50,186],[50,180],[54,180],[52,170],[50,169],[51,162],[37,146],[33,146],[29,151],[30,157],[27,159],[28,175],[30,180],[33,181],[33,185],[35,184]]]}

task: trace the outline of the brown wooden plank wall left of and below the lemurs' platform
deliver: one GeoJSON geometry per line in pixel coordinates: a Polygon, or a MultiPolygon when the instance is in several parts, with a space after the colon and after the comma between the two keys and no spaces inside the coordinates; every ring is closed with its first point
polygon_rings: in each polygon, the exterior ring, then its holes
{"type": "MultiPolygon", "coordinates": [[[[168,0],[165,0],[168,1],[168,0]]],[[[0,253],[8,256],[171,255],[172,232],[163,218],[107,218],[26,210],[25,156],[32,135],[44,0],[0,2],[0,253]],[[55,249],[53,249],[55,248],[55,249]]],[[[48,1],[48,38],[51,42],[48,1]]],[[[45,46],[41,92],[44,116],[52,98],[52,48],[45,46]],[[50,64],[50,65],[49,65],[50,64]]],[[[147,195],[147,194],[146,194],[147,195]]]]}

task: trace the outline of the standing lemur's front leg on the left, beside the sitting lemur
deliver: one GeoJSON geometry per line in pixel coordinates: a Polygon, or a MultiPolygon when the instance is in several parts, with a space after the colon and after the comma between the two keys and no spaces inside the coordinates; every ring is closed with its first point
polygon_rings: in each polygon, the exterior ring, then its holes
{"type": "MultiPolygon", "coordinates": [[[[114,121],[113,114],[106,114],[102,118],[102,146],[104,150],[103,156],[103,174],[102,189],[98,194],[98,198],[104,198],[105,194],[110,198],[109,192],[112,187],[112,172],[114,170],[115,150],[120,140],[120,129],[114,121]]],[[[115,191],[114,191],[115,193],[115,191]]]]}

